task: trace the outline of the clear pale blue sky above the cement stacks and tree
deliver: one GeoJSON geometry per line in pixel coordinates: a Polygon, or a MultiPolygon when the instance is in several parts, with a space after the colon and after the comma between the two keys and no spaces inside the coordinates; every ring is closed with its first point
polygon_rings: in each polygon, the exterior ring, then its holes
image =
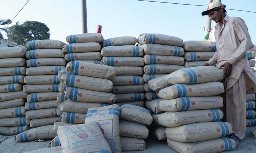
{"type": "MultiPolygon", "coordinates": [[[[156,0],[172,3],[206,5],[207,0],[156,0]]],[[[1,17],[12,19],[27,0],[2,0],[1,17]]],[[[227,8],[256,11],[255,0],[222,0],[227,8]]],[[[102,25],[105,39],[137,36],[140,33],[162,33],[183,40],[203,40],[205,16],[202,6],[139,2],[134,0],[87,0],[88,33],[102,25]]],[[[256,44],[256,13],[227,10],[246,22],[252,42],[256,44]]],[[[30,0],[13,20],[40,21],[50,28],[50,39],[66,42],[66,36],[82,33],[81,0],[30,0]]],[[[212,27],[214,21],[212,21],[212,27]]],[[[8,25],[10,26],[10,25],[8,25]]],[[[3,26],[1,26],[3,27],[3,26]]]]}

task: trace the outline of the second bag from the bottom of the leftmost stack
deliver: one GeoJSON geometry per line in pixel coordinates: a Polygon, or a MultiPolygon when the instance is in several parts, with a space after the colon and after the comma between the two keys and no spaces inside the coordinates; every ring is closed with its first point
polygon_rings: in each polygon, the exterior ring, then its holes
{"type": "Polygon", "coordinates": [[[23,126],[29,125],[30,120],[25,117],[11,117],[11,118],[2,118],[0,119],[1,127],[14,127],[14,126],[23,126]]]}

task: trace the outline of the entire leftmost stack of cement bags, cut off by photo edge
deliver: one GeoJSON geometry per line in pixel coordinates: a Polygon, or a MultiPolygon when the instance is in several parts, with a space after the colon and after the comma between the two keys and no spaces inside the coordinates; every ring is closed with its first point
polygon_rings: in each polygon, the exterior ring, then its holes
{"type": "Polygon", "coordinates": [[[22,91],[26,74],[27,49],[0,48],[0,134],[16,135],[29,129],[24,107],[27,93],[22,91]],[[24,99],[25,98],[25,99],[24,99]]]}

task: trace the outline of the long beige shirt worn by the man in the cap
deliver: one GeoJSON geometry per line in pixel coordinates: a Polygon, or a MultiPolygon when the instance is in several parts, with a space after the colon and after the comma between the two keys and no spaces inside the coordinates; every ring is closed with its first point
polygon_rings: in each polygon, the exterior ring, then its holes
{"type": "Polygon", "coordinates": [[[232,64],[231,75],[226,78],[226,89],[232,87],[244,70],[256,84],[256,77],[248,63],[246,52],[253,47],[251,36],[243,19],[226,15],[224,24],[218,22],[215,26],[217,51],[207,62],[217,63],[220,67],[225,62],[232,64]]]}

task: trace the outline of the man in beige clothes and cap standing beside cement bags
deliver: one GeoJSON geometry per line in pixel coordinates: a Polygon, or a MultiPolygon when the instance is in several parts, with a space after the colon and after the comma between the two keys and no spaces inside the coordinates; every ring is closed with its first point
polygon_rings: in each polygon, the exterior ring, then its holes
{"type": "Polygon", "coordinates": [[[217,67],[224,68],[226,119],[232,125],[231,138],[238,142],[245,136],[245,75],[248,75],[252,84],[256,84],[256,77],[246,56],[246,52],[253,47],[253,44],[244,20],[226,15],[225,7],[226,5],[215,1],[202,12],[202,15],[208,15],[217,23],[215,26],[217,51],[204,66],[217,63],[217,67]]]}

